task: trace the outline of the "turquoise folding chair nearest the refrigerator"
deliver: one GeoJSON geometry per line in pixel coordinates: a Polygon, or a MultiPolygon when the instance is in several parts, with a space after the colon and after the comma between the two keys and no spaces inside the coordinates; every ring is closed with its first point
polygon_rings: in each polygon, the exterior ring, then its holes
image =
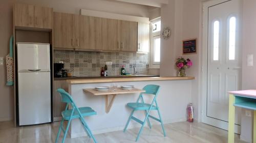
{"type": "Polygon", "coordinates": [[[61,112],[61,116],[62,116],[62,120],[61,120],[61,124],[59,126],[59,130],[58,130],[58,134],[55,140],[55,143],[58,142],[58,138],[60,135],[60,131],[62,131],[64,133],[63,139],[62,139],[62,143],[65,142],[68,130],[69,130],[69,126],[71,123],[72,119],[77,119],[79,118],[84,130],[86,130],[87,135],[91,138],[93,138],[93,141],[95,143],[97,143],[97,141],[95,140],[90,128],[88,127],[86,121],[84,121],[83,117],[87,117],[87,116],[92,116],[92,115],[96,115],[96,111],[94,111],[91,107],[80,107],[77,108],[75,102],[73,101],[73,98],[70,96],[69,93],[67,93],[65,90],[63,89],[57,89],[57,92],[61,95],[61,102],[65,102],[67,103],[66,108],[64,111],[61,112]],[[72,109],[68,110],[68,106],[72,105],[72,109]],[[68,121],[68,125],[66,127],[66,130],[63,128],[63,122],[64,121],[68,121]]]}

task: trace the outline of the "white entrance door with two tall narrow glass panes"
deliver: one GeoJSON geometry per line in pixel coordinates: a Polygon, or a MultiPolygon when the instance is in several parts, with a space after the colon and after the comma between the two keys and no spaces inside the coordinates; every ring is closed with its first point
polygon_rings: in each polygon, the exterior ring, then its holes
{"type": "MultiPolygon", "coordinates": [[[[207,10],[204,7],[207,62],[203,122],[222,129],[227,129],[228,123],[227,92],[241,90],[240,3],[240,0],[212,1],[206,4],[207,10]]],[[[239,108],[236,113],[236,131],[240,133],[239,108]]]]}

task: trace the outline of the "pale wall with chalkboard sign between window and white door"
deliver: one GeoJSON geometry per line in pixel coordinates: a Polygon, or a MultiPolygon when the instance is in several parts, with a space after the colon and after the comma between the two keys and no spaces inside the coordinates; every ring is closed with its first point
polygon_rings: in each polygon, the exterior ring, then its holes
{"type": "Polygon", "coordinates": [[[201,48],[201,0],[169,0],[168,5],[161,8],[161,26],[170,27],[170,39],[161,39],[160,76],[176,76],[175,59],[184,56],[193,61],[194,65],[186,70],[187,75],[195,76],[192,84],[192,102],[195,107],[195,119],[200,121],[199,111],[199,51],[201,48]],[[182,55],[182,40],[198,39],[196,54],[182,55]]]}

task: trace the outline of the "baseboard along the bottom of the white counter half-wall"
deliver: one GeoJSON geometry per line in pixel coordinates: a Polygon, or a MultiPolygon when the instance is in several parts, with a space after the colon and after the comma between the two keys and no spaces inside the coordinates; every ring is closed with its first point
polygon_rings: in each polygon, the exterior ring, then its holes
{"type": "MultiPolygon", "coordinates": [[[[186,119],[170,119],[170,120],[163,120],[164,124],[169,124],[169,123],[176,123],[176,122],[184,122],[186,119]]],[[[159,125],[160,123],[154,120],[150,121],[152,125],[159,125]]],[[[93,130],[93,134],[101,134],[101,133],[106,133],[106,132],[114,132],[114,131],[120,131],[123,130],[125,126],[119,126],[119,127],[113,127],[113,128],[107,128],[107,129],[99,129],[99,130],[93,130]]],[[[140,124],[130,124],[127,129],[133,129],[133,128],[139,128],[141,127],[140,124]]],[[[145,125],[147,127],[147,124],[145,125]]],[[[71,138],[75,137],[81,137],[81,136],[87,136],[86,132],[81,132],[81,133],[70,133],[71,138]]]]}

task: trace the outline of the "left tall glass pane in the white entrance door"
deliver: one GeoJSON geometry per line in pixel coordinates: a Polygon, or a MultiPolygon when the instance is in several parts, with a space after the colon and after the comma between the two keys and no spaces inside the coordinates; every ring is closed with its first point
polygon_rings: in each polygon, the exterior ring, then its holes
{"type": "Polygon", "coordinates": [[[219,60],[220,22],[214,22],[214,61],[219,60]]]}

